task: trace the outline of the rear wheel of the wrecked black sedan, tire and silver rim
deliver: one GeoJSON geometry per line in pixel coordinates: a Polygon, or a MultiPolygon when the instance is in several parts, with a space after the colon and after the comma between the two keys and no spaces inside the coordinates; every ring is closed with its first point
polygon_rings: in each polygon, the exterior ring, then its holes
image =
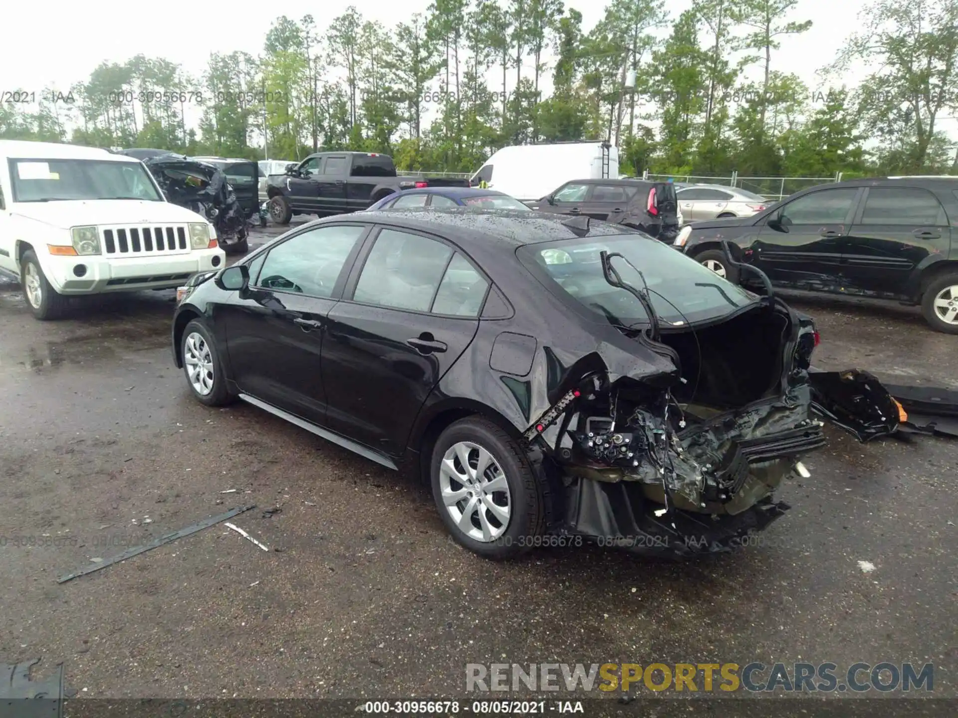
{"type": "Polygon", "coordinates": [[[469,416],[448,426],[436,441],[429,467],[432,496],[439,515],[452,540],[460,546],[484,558],[503,560],[531,549],[536,539],[545,533],[543,488],[536,481],[525,452],[513,438],[488,419],[469,416]],[[462,460],[458,457],[466,453],[469,468],[474,473],[471,463],[478,460],[483,451],[490,455],[483,482],[494,482],[496,487],[508,488],[508,493],[493,487],[490,493],[483,492],[485,501],[480,504],[481,509],[467,510],[473,502],[468,491],[475,484],[468,484],[467,472],[463,471],[462,460]],[[452,461],[448,469],[444,468],[447,457],[452,461]],[[456,482],[451,478],[454,476],[461,477],[462,481],[456,482]],[[447,507],[444,492],[449,491],[461,493],[463,498],[447,507]],[[498,517],[489,505],[499,508],[498,517]],[[503,508],[508,509],[505,521],[499,518],[503,508]],[[458,512],[465,529],[458,526],[450,510],[458,512]],[[482,518],[486,521],[482,521],[482,518]],[[483,527],[486,528],[488,540],[484,540],[483,527]],[[468,535],[467,531],[473,535],[468,535]]]}

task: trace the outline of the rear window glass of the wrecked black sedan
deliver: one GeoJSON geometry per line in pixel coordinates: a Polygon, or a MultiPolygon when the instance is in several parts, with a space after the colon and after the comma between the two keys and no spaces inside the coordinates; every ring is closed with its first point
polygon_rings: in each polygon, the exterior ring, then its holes
{"type": "MultiPolygon", "coordinates": [[[[582,237],[527,244],[518,257],[547,287],[616,325],[646,325],[642,304],[625,289],[605,281],[599,253],[618,252],[645,276],[655,313],[671,325],[717,319],[755,301],[741,287],[711,269],[644,235],[582,237]]],[[[643,281],[623,258],[612,266],[641,291],[643,281]]]]}

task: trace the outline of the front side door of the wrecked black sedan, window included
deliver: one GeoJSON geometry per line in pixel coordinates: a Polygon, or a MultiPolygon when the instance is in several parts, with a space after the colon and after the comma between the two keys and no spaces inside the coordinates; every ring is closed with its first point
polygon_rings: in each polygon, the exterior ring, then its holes
{"type": "Polygon", "coordinates": [[[239,391],[322,424],[327,315],[367,228],[324,225],[291,236],[250,265],[250,288],[217,308],[239,391]]]}

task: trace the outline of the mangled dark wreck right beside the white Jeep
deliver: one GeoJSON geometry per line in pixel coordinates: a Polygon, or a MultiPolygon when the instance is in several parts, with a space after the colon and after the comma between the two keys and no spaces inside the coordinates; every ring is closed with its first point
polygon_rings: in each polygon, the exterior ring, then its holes
{"type": "Polygon", "coordinates": [[[177,154],[148,157],[143,164],[170,202],[192,210],[213,224],[219,247],[226,254],[242,254],[248,250],[247,212],[221,169],[177,154]]]}

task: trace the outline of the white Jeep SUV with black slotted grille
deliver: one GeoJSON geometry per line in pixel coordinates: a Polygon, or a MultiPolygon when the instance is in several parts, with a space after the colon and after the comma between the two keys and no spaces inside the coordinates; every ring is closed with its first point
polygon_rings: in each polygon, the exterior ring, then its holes
{"type": "Polygon", "coordinates": [[[213,225],[167,202],[139,160],[0,141],[0,270],[37,319],[69,295],[176,287],[224,262],[213,225]]]}

